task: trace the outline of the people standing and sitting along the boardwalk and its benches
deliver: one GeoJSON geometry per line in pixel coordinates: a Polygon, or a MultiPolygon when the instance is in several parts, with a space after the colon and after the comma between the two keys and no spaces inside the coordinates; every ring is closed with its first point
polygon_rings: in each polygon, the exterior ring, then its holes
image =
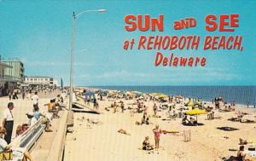
{"type": "MultiPolygon", "coordinates": [[[[25,99],[25,95],[22,93],[21,95],[22,98],[25,99]]],[[[45,132],[52,132],[52,129],[50,129],[51,119],[52,117],[60,118],[58,112],[61,110],[61,107],[63,107],[63,101],[67,97],[66,93],[63,92],[61,95],[57,95],[54,99],[51,99],[49,103],[45,105],[48,107],[47,112],[40,110],[38,91],[29,91],[26,96],[27,99],[32,101],[32,112],[26,113],[28,118],[27,123],[17,126],[15,137],[22,135],[26,129],[29,129],[33,124],[38,123],[39,120],[41,124],[45,124],[45,132]]],[[[32,161],[32,156],[27,152],[26,148],[10,146],[13,131],[15,129],[15,118],[12,112],[15,109],[15,101],[12,100],[15,99],[18,99],[16,92],[13,95],[9,95],[9,103],[7,108],[3,111],[3,126],[0,126],[0,152],[13,152],[13,155],[11,156],[14,158],[23,157],[25,160],[32,161]]]]}

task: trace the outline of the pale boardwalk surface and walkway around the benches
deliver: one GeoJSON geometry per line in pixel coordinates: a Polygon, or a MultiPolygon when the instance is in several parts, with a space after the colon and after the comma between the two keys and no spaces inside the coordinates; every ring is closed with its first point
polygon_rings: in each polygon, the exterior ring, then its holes
{"type": "MultiPolygon", "coordinates": [[[[41,112],[47,111],[47,106],[44,104],[49,103],[49,100],[54,98],[60,92],[50,93],[47,95],[39,93],[39,109],[41,112]]],[[[15,118],[14,130],[12,138],[15,139],[15,129],[19,124],[27,124],[28,118],[26,117],[27,112],[32,112],[32,101],[25,100],[12,100],[15,104],[15,109],[13,110],[13,115],[15,118]]],[[[7,107],[9,102],[9,97],[0,97],[0,120],[3,120],[3,110],[7,107]]],[[[52,120],[53,132],[44,132],[30,149],[32,153],[32,158],[38,161],[58,161],[61,160],[62,148],[65,142],[66,135],[66,121],[67,121],[67,111],[61,111],[61,118],[54,118],[52,120]]]]}

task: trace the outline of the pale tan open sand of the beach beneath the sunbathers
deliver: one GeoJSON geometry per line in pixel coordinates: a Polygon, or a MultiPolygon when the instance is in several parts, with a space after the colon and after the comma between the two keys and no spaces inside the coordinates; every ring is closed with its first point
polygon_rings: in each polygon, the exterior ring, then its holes
{"type": "MultiPolygon", "coordinates": [[[[256,124],[246,124],[227,120],[235,116],[235,112],[214,111],[214,119],[207,120],[207,115],[199,115],[198,122],[201,126],[184,126],[182,118],[167,118],[166,111],[159,111],[161,118],[153,118],[154,101],[145,101],[148,106],[150,124],[136,125],[141,121],[143,113],[134,113],[130,110],[124,113],[118,108],[113,113],[104,110],[113,101],[99,101],[100,111],[103,114],[76,112],[74,114],[73,133],[67,134],[65,147],[65,161],[81,160],[221,160],[223,157],[236,156],[236,152],[229,149],[239,148],[239,138],[255,142],[256,124]],[[91,124],[95,120],[97,124],[91,124]],[[177,130],[177,134],[161,134],[160,149],[143,151],[142,145],[145,136],[154,145],[155,124],[160,129],[177,130]],[[238,130],[224,131],[218,127],[232,127],[238,130]],[[119,129],[125,129],[131,135],[118,133],[119,129]],[[183,130],[190,130],[191,141],[183,141],[183,130]],[[83,160],[83,159],[82,159],[83,160]]],[[[131,106],[134,100],[117,100],[125,102],[125,108],[131,106]]],[[[80,101],[83,102],[83,101],[80,101]]],[[[157,104],[159,106],[159,104],[157,104]]],[[[131,107],[135,107],[131,106],[131,107]]],[[[90,105],[92,107],[92,105],[90,105]]],[[[239,108],[239,106],[236,106],[239,108]]],[[[241,112],[255,114],[255,109],[241,108],[241,112]]]]}

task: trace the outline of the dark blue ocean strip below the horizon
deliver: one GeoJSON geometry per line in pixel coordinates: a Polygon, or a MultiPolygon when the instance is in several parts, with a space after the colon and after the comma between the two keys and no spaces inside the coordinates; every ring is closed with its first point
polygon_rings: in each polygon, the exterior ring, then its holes
{"type": "Polygon", "coordinates": [[[144,93],[163,93],[165,95],[183,95],[212,101],[223,96],[224,101],[253,106],[256,103],[256,86],[93,86],[97,89],[137,90],[144,93]]]}

